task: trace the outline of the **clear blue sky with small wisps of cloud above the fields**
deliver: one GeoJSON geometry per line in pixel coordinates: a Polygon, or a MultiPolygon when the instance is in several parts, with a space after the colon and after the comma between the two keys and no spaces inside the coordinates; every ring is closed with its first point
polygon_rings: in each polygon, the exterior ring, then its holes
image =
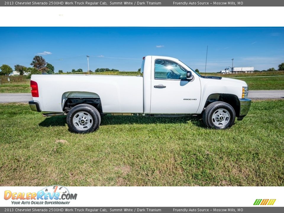
{"type": "Polygon", "coordinates": [[[192,69],[219,72],[225,67],[277,69],[284,62],[284,28],[99,28],[0,27],[0,66],[30,66],[41,55],[55,72],[114,68],[137,71],[142,57],[175,57],[192,69]]]}

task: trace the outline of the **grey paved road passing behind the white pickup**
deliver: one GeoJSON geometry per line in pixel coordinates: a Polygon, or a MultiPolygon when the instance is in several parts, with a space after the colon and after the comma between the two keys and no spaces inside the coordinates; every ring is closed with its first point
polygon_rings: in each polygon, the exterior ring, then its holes
{"type": "MultiPolygon", "coordinates": [[[[250,90],[249,99],[284,99],[284,90],[250,90]]],[[[0,103],[28,103],[30,93],[0,93],[0,103]]]]}

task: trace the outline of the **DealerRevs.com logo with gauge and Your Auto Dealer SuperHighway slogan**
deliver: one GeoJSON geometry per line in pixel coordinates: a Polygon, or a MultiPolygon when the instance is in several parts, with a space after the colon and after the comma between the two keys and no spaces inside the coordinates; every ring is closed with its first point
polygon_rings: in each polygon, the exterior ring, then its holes
{"type": "Polygon", "coordinates": [[[76,200],[77,194],[69,193],[64,186],[48,186],[38,192],[12,192],[4,191],[4,199],[11,199],[12,204],[70,204],[76,200]]]}

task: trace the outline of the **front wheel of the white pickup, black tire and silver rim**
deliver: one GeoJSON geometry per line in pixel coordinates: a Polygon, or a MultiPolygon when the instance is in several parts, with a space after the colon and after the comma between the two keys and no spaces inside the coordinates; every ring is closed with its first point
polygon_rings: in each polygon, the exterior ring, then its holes
{"type": "Polygon", "coordinates": [[[206,127],[215,129],[230,128],[234,124],[235,118],[236,114],[234,108],[230,104],[227,104],[223,101],[216,101],[209,104],[205,108],[202,116],[202,120],[206,127]],[[221,119],[221,121],[220,118],[222,118],[223,120],[221,119]],[[219,124],[217,125],[217,123],[219,124]]]}

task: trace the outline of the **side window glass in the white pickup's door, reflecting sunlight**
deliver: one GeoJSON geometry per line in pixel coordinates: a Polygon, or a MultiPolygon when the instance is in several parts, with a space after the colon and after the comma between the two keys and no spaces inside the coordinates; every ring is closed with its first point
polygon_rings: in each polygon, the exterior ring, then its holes
{"type": "Polygon", "coordinates": [[[187,70],[176,62],[165,59],[155,60],[155,79],[184,79],[186,72],[187,70]]]}

